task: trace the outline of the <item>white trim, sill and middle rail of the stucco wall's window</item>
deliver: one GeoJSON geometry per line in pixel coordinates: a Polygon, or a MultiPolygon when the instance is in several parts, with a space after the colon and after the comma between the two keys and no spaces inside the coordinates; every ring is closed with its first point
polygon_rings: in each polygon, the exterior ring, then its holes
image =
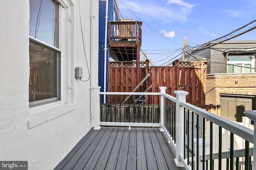
{"type": "MultiPolygon", "coordinates": [[[[61,60],[60,60],[60,101],[55,101],[48,104],[43,104],[40,106],[30,107],[29,113],[28,113],[28,121],[27,121],[27,127],[32,128],[36,127],[37,125],[40,125],[42,123],[45,123],[46,121],[49,121],[51,119],[54,119],[55,117],[58,117],[60,115],[63,115],[65,113],[68,113],[69,111],[72,111],[76,109],[76,104],[73,103],[74,97],[72,94],[74,93],[74,80],[70,78],[69,75],[72,75],[72,68],[70,65],[70,60],[72,61],[73,58],[70,56],[72,55],[65,55],[67,53],[66,46],[68,45],[69,41],[61,41],[62,39],[68,39],[68,37],[64,37],[68,35],[70,32],[69,29],[66,28],[66,13],[68,12],[68,8],[70,6],[73,6],[72,0],[57,0],[62,7],[60,7],[60,36],[59,36],[59,49],[56,47],[53,47],[51,45],[48,45],[47,43],[44,43],[43,41],[40,41],[38,39],[35,39],[33,37],[29,37],[32,41],[36,41],[39,43],[42,43],[44,45],[47,45],[47,47],[50,47],[56,51],[61,51],[61,60]],[[70,59],[68,59],[70,57],[70,59]],[[64,66],[68,67],[68,74],[67,72],[64,73],[64,66]],[[67,90],[68,89],[68,90],[67,90]]],[[[65,68],[66,70],[67,68],[65,68]]]]}

